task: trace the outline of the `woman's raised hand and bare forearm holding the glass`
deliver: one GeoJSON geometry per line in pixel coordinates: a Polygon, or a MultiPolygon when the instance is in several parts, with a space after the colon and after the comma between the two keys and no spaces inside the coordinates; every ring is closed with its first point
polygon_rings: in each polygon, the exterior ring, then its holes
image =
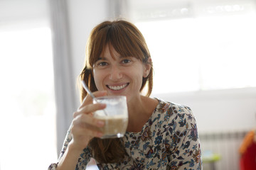
{"type": "MultiPolygon", "coordinates": [[[[97,91],[93,93],[95,97],[106,96],[107,91],[97,91]]],[[[92,137],[101,137],[102,133],[95,130],[104,126],[104,122],[93,118],[92,113],[104,109],[105,104],[92,104],[92,97],[87,96],[82,101],[82,105],[78,111],[74,113],[74,119],[71,127],[73,139],[69,142],[63,157],[60,158],[57,169],[75,169],[78,164],[78,158],[82,153],[82,149],[87,147],[92,137]]]]}

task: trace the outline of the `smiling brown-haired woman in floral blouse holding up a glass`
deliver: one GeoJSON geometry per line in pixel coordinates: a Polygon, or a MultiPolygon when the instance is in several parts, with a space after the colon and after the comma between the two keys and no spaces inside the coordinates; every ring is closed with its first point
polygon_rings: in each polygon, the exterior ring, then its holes
{"type": "Polygon", "coordinates": [[[105,105],[92,104],[82,89],[82,105],[74,113],[59,162],[49,169],[85,169],[91,158],[99,169],[201,169],[193,113],[186,106],[149,98],[151,57],[142,33],[132,23],[105,21],[92,30],[80,80],[95,96],[127,97],[127,132],[122,138],[101,140],[102,133],[95,127],[104,123],[92,113],[105,105]]]}

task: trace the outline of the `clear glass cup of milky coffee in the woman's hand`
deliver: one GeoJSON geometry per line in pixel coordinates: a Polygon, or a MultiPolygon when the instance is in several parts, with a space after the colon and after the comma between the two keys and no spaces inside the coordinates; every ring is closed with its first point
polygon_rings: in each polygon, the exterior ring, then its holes
{"type": "Polygon", "coordinates": [[[128,125],[128,109],[126,96],[102,96],[93,99],[93,103],[105,103],[107,107],[95,111],[94,117],[105,122],[99,128],[103,133],[101,139],[124,137],[128,125]]]}

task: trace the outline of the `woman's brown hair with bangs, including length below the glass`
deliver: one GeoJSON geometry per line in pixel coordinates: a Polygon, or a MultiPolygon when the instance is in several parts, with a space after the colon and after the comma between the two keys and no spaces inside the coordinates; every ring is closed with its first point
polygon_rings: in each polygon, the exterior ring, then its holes
{"type": "MultiPolygon", "coordinates": [[[[119,55],[123,57],[136,57],[144,64],[151,64],[150,53],[146,41],[134,24],[128,21],[105,21],[92,29],[87,41],[85,67],[80,74],[80,80],[84,80],[91,91],[97,91],[92,75],[92,67],[104,52],[105,47],[111,45],[119,55]]],[[[111,50],[111,49],[110,49],[111,50]]],[[[111,52],[111,51],[110,51],[111,52]]],[[[151,64],[152,66],[152,64],[151,64]]],[[[148,77],[142,77],[142,87],[147,84],[146,96],[150,96],[153,87],[153,68],[151,67],[148,77]]],[[[87,92],[81,89],[81,100],[85,98],[87,92]]],[[[120,162],[126,154],[122,139],[93,138],[89,145],[92,155],[100,163],[120,162]]]]}

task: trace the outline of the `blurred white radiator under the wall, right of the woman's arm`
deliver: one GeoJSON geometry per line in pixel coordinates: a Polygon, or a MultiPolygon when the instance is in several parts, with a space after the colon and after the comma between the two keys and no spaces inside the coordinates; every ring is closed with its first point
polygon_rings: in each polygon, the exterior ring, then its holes
{"type": "MultiPolygon", "coordinates": [[[[248,130],[234,132],[199,133],[203,156],[206,152],[220,154],[220,160],[215,162],[215,170],[239,170],[238,149],[248,130]]],[[[203,169],[210,170],[210,163],[203,162],[203,169]]]]}

